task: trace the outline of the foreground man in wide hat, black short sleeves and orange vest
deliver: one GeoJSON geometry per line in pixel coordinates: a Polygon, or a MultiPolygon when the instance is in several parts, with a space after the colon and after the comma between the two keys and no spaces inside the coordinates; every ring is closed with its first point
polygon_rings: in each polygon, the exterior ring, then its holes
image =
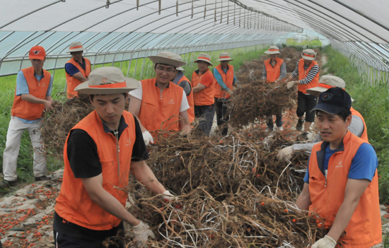
{"type": "Polygon", "coordinates": [[[155,237],[149,225],[125,208],[125,189],[131,172],[155,194],[171,194],[158,182],[145,160],[149,158],[137,118],[124,111],[128,92],[139,88],[120,69],[95,69],[78,93],[90,95],[95,110],[74,126],[64,146],[64,179],[54,211],[56,247],[101,247],[124,230],[126,221],[135,239],[155,237]]]}

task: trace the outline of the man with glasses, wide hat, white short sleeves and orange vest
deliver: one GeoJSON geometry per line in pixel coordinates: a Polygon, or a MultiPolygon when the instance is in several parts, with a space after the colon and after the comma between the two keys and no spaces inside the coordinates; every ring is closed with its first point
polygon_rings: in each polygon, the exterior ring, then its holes
{"type": "Polygon", "coordinates": [[[189,104],[183,88],[171,83],[175,71],[185,62],[173,52],[149,56],[154,63],[155,78],[141,80],[141,87],[129,95],[129,112],[138,117],[146,145],[153,142],[149,131],[184,131],[190,133],[189,104]]]}

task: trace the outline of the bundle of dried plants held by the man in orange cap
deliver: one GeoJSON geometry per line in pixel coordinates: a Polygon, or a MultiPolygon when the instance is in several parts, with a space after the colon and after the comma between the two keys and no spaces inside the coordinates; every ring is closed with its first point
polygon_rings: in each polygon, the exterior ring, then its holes
{"type": "Polygon", "coordinates": [[[43,117],[42,138],[45,149],[52,155],[62,158],[69,131],[94,108],[89,95],[85,94],[79,94],[78,98],[71,98],[65,102],[53,102],[52,107],[53,110],[46,112],[43,117]]]}

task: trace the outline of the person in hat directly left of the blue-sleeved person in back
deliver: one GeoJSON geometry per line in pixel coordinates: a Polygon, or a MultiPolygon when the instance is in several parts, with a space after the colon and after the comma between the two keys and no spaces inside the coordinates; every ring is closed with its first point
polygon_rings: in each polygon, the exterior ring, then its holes
{"type": "Polygon", "coordinates": [[[192,73],[194,116],[199,118],[199,129],[209,135],[214,122],[214,75],[208,69],[213,66],[211,57],[201,53],[194,61],[198,70],[192,73]]]}

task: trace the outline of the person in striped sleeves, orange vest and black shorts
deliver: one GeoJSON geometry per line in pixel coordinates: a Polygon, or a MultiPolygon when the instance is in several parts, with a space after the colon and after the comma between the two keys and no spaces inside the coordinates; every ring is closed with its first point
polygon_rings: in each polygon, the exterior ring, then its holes
{"type": "Polygon", "coordinates": [[[298,59],[296,69],[291,73],[291,76],[286,79],[285,83],[287,88],[298,85],[297,95],[297,110],[298,123],[296,126],[297,131],[303,129],[304,113],[306,114],[306,124],[302,138],[308,138],[308,131],[310,124],[315,121],[315,112],[311,111],[315,107],[317,97],[307,93],[307,89],[315,88],[319,83],[319,65],[315,61],[316,52],[313,49],[305,49],[301,53],[303,59],[298,59]],[[298,81],[294,81],[294,78],[298,76],[298,81]]]}

